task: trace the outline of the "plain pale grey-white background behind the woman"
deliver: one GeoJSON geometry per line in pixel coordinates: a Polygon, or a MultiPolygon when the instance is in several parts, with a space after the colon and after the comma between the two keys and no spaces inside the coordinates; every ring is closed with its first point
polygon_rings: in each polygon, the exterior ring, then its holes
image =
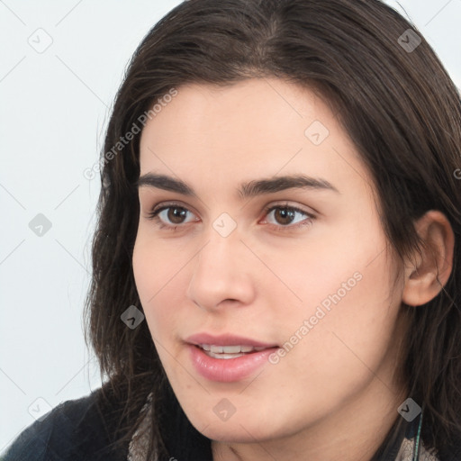
{"type": "MultiPolygon", "coordinates": [[[[83,171],[97,161],[132,52],[179,3],[0,0],[0,453],[35,418],[101,384],[82,329],[100,185],[83,171]],[[51,222],[42,236],[29,227],[39,213],[51,222]]],[[[387,3],[461,87],[461,0],[387,3]]]]}

